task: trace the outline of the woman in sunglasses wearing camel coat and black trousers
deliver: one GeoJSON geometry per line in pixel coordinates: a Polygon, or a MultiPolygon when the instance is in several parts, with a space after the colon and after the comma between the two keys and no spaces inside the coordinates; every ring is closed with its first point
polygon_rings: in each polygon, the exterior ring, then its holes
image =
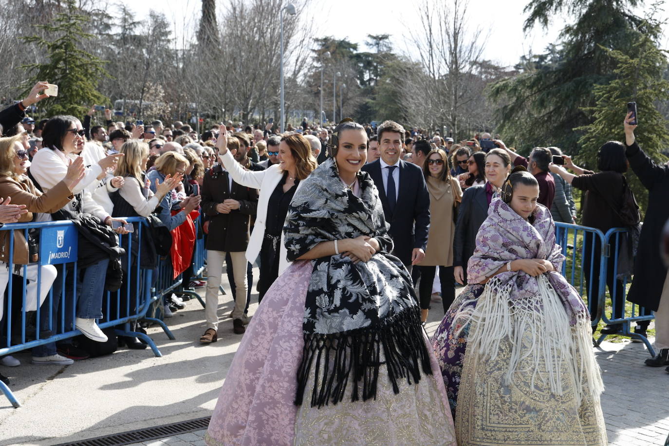
{"type": "MultiPolygon", "coordinates": [[[[413,146],[427,141],[416,141],[413,146]]],[[[453,239],[456,232],[455,215],[462,189],[460,183],[450,175],[448,157],[441,148],[435,148],[427,154],[423,164],[423,176],[429,192],[429,232],[425,257],[417,265],[420,271],[418,295],[421,308],[421,321],[427,320],[429,302],[432,296],[432,282],[437,267],[442,286],[444,312],[456,297],[456,283],[453,275],[453,239]]]]}

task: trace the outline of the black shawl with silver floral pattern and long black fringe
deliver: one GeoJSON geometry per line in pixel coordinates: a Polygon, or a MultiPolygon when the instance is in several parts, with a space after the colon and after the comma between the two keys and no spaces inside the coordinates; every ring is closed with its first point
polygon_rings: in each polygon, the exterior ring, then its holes
{"type": "Polygon", "coordinates": [[[343,185],[328,159],[304,181],[288,209],[284,233],[290,261],[322,241],[369,235],[381,245],[367,263],[356,265],[343,255],[313,261],[296,405],[302,404],[309,376],[315,380],[311,405],[320,407],[342,401],[349,377],[352,401],[375,398],[382,365],[395,393],[399,379],[418,382],[421,368],[432,374],[411,278],[389,254],[393,242],[373,181],[364,172],[358,180],[361,197],[343,185]]]}

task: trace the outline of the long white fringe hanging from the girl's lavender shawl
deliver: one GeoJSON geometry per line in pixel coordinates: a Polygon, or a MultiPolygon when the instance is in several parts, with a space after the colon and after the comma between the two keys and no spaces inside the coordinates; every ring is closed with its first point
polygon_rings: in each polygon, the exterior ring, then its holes
{"type": "MultiPolygon", "coordinates": [[[[538,299],[514,299],[511,302],[512,286],[504,286],[493,277],[478,298],[476,308],[468,305],[472,301],[464,302],[460,307],[454,318],[454,324],[461,324],[456,336],[466,324],[474,322],[467,349],[473,349],[488,360],[495,360],[500,343],[508,340],[512,350],[504,374],[505,385],[511,384],[518,364],[529,359],[530,366],[519,371],[531,374],[531,385],[540,379],[549,385],[552,393],[563,395],[565,383],[560,368],[562,364],[568,364],[579,401],[582,401],[584,391],[598,397],[603,391],[603,382],[592,352],[589,318],[581,317],[570,326],[565,308],[547,277],[541,275],[537,282],[538,299]],[[523,346],[522,338],[528,335],[530,345],[523,346]],[[543,368],[545,373],[541,372],[543,368]]],[[[566,384],[569,388],[570,384],[566,384]]]]}

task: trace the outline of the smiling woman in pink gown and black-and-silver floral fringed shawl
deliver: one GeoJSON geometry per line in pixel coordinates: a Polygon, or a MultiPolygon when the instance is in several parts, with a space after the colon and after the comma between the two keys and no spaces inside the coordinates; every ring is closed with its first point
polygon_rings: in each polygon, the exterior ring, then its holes
{"type": "Polygon", "coordinates": [[[455,445],[411,278],[390,255],[367,134],[345,121],[304,180],[268,290],[229,369],[207,442],[455,445]]]}

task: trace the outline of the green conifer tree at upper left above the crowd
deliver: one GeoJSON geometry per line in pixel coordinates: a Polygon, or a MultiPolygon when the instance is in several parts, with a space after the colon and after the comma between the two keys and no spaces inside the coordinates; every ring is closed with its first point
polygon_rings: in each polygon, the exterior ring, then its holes
{"type": "Polygon", "coordinates": [[[24,67],[33,72],[33,76],[25,82],[25,88],[29,91],[35,82],[43,80],[56,84],[58,96],[43,101],[49,114],[82,116],[92,104],[108,102],[108,98],[98,92],[98,83],[109,74],[104,69],[106,62],[80,48],[82,41],[92,37],[84,32],[88,16],[78,13],[74,0],[66,0],[63,11],[56,15],[52,23],[37,25],[47,32],[49,39],[23,37],[25,41],[41,47],[48,58],[47,62],[24,67]]]}

